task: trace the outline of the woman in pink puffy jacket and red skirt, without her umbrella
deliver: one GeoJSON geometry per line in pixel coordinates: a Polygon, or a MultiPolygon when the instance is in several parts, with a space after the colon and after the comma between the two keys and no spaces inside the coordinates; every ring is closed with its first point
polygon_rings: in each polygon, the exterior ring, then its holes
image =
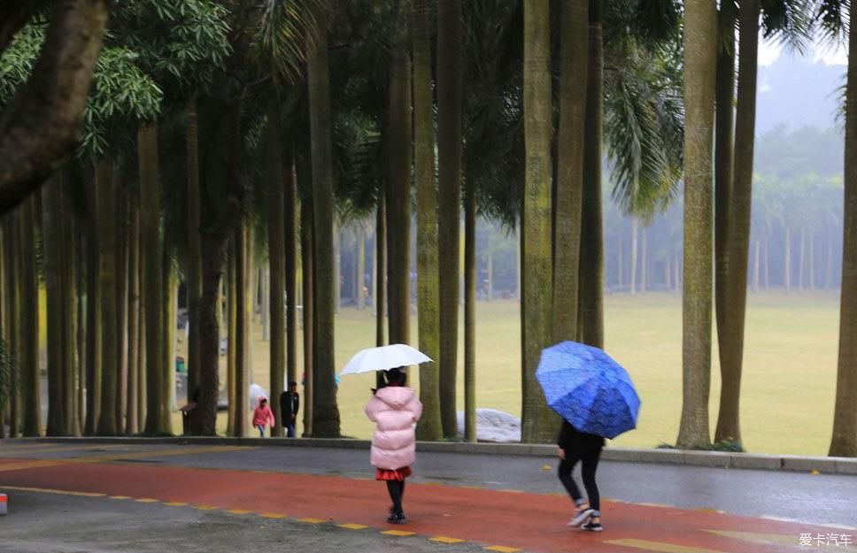
{"type": "Polygon", "coordinates": [[[413,426],[422,414],[422,403],[412,388],[405,387],[405,373],[387,371],[387,385],[375,391],[366,405],[369,420],[375,423],[372,436],[371,462],[376,468],[375,480],[387,482],[393,506],[390,524],[405,524],[402,496],[405,478],[411,475],[416,451],[413,426]]]}

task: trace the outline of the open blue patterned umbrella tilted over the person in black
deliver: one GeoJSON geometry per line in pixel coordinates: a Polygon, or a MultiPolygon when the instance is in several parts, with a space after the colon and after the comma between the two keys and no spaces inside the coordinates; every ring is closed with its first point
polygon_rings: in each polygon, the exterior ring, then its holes
{"type": "Polygon", "coordinates": [[[536,378],[551,409],[581,432],[612,439],[637,427],[637,390],[602,349],[577,342],[544,349],[536,378]]]}

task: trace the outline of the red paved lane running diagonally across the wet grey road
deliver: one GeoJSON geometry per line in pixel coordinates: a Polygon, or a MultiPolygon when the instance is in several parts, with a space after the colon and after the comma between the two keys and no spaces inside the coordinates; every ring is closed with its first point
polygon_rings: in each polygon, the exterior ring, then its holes
{"type": "Polygon", "coordinates": [[[606,531],[590,534],[567,528],[571,506],[564,496],[413,483],[405,490],[405,511],[411,523],[388,526],[383,521],[389,507],[386,490],[381,483],[371,480],[95,463],[2,471],[4,464],[21,461],[20,458],[0,458],[0,485],[130,495],[162,502],[212,505],[220,509],[282,513],[295,518],[325,518],[337,523],[452,536],[544,553],[640,550],[609,543],[622,539],[722,552],[776,553],[791,548],[782,543],[766,545],[737,540],[706,530],[780,534],[781,539],[793,539],[794,549],[799,549],[802,533],[835,532],[711,511],[606,502],[602,505],[606,531]]]}

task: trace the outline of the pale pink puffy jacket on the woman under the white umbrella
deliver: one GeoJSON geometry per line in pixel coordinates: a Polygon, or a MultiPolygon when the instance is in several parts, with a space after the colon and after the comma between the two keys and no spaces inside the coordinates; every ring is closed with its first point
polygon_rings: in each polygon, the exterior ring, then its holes
{"type": "Polygon", "coordinates": [[[416,451],[413,425],[422,414],[416,392],[399,386],[381,388],[369,400],[365,411],[375,423],[372,465],[391,471],[413,465],[416,451]]]}

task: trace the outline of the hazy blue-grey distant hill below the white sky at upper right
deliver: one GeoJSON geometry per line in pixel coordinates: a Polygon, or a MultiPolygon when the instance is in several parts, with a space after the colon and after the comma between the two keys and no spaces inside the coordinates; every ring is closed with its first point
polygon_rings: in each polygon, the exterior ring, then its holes
{"type": "Polygon", "coordinates": [[[756,134],[775,127],[830,128],[837,125],[838,88],[845,84],[845,65],[827,65],[813,56],[783,53],[759,68],[756,134]]]}

